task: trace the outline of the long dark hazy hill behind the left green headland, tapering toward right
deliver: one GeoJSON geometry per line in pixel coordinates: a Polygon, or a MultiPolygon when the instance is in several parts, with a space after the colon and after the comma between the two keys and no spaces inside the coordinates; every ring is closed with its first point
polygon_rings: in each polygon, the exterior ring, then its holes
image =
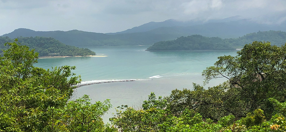
{"type": "MultiPolygon", "coordinates": [[[[182,36],[183,34],[179,34],[182,36]]],[[[22,37],[52,37],[62,43],[73,46],[119,46],[119,45],[151,45],[162,40],[172,40],[178,34],[169,33],[133,33],[108,35],[103,33],[85,32],[80,30],[71,31],[34,31],[30,29],[16,29],[11,33],[4,34],[2,37],[10,38],[22,37]]]]}

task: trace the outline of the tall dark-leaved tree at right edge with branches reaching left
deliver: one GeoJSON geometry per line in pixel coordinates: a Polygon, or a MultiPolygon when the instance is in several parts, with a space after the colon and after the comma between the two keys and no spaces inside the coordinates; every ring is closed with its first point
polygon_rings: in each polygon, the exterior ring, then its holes
{"type": "MultiPolygon", "coordinates": [[[[268,98],[284,102],[286,46],[271,46],[270,42],[254,41],[237,53],[236,57],[218,57],[214,66],[203,71],[205,82],[214,78],[228,79],[229,88],[226,90],[238,90],[237,97],[249,112],[265,109],[268,98]]],[[[271,113],[272,110],[266,110],[268,117],[271,113]]]]}

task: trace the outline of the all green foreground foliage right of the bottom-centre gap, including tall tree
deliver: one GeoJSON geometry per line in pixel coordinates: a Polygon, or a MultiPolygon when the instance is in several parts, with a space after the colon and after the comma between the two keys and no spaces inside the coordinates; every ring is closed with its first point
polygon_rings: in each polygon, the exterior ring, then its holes
{"type": "Polygon", "coordinates": [[[222,56],[202,75],[205,83],[226,78],[218,86],[175,89],[156,99],[151,93],[143,109],[120,108],[110,119],[119,131],[285,131],[286,46],[247,44],[236,57],[222,56]]]}

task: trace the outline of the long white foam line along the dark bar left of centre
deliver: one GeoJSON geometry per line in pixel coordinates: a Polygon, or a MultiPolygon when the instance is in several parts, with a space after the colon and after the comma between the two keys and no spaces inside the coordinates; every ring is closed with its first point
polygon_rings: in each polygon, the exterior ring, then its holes
{"type": "Polygon", "coordinates": [[[76,87],[82,87],[86,85],[92,84],[101,84],[101,83],[113,83],[113,82],[129,82],[129,81],[138,81],[138,80],[147,80],[147,79],[128,79],[128,80],[91,80],[91,81],[83,81],[80,84],[77,84],[76,87]]]}

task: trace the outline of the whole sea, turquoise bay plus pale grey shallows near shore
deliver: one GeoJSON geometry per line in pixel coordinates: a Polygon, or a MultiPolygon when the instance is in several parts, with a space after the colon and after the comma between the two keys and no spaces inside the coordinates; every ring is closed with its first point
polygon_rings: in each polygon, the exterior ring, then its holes
{"type": "MultiPolygon", "coordinates": [[[[173,89],[192,89],[193,83],[203,85],[201,72],[213,66],[217,57],[236,56],[237,51],[145,51],[149,46],[103,46],[89,48],[98,56],[38,59],[34,66],[52,69],[76,66],[72,71],[81,75],[82,83],[74,90],[71,100],[87,94],[95,101],[110,99],[112,108],[103,121],[113,117],[115,108],[128,105],[140,109],[148,95],[168,96],[173,89]]],[[[225,79],[214,79],[208,87],[225,79]]]]}

